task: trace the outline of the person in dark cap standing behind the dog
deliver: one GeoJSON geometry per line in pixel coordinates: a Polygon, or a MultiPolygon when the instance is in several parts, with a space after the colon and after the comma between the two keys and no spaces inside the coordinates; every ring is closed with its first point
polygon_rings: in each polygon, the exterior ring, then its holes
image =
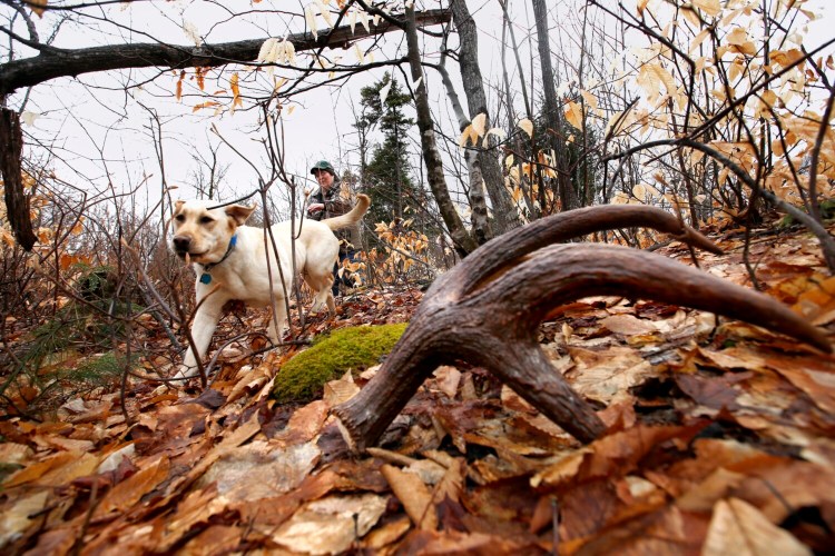
{"type": "MultiPolygon", "coordinates": [[[[318,182],[318,191],[313,193],[310,199],[307,207],[307,216],[313,220],[323,220],[334,216],[344,215],[351,210],[351,201],[346,196],[342,195],[342,187],[340,178],[336,176],[336,171],[327,160],[320,160],[313,168],[311,173],[316,178],[318,182]]],[[[356,254],[360,248],[360,225],[346,228],[344,230],[336,231],[336,237],[340,239],[340,261],[334,266],[334,282],[333,282],[333,295],[337,296],[340,292],[340,281],[346,286],[353,286],[353,282],[343,272],[340,279],[338,270],[342,266],[342,261],[348,259],[354,261],[356,254]]]]}

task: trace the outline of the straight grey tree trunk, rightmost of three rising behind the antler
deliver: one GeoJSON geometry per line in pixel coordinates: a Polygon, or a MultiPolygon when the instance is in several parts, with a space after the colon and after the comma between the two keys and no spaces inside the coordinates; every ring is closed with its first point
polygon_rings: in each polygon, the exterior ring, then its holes
{"type": "MultiPolygon", "coordinates": [[[[533,20],[537,22],[537,44],[539,49],[539,62],[542,68],[542,92],[546,100],[546,123],[556,133],[563,129],[560,118],[560,105],[557,99],[554,87],[553,67],[551,66],[551,43],[548,39],[548,9],[546,0],[531,0],[533,3],[533,20]]],[[[453,18],[454,18],[453,10],[453,18]]],[[[577,192],[571,185],[571,169],[566,148],[559,140],[559,135],[549,133],[548,145],[557,155],[557,183],[562,210],[571,210],[580,206],[577,192]]]]}

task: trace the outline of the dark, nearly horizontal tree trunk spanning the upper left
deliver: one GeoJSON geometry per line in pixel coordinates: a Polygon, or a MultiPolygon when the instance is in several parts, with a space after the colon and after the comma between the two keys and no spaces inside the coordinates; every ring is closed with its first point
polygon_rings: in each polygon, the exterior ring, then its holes
{"type": "MultiPolygon", "coordinates": [[[[415,16],[415,24],[425,27],[445,23],[450,21],[450,17],[449,10],[422,11],[415,16]]],[[[314,39],[312,33],[296,33],[291,34],[287,40],[293,43],[296,52],[324,47],[347,48],[354,40],[400,29],[389,21],[381,20],[371,31],[357,26],[352,32],[351,27],[343,26],[318,33],[317,39],[314,39]]],[[[0,63],[0,97],[50,79],[78,77],[94,71],[125,68],[209,68],[250,62],[258,56],[265,40],[266,38],[250,39],[202,47],[164,43],[108,44],[73,50],[35,43],[30,46],[39,48],[40,54],[0,63]]]]}

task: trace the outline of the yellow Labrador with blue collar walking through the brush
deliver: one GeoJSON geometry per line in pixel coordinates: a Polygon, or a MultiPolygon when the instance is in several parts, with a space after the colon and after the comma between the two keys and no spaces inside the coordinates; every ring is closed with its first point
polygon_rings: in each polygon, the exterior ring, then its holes
{"type": "MultiPolygon", "coordinates": [[[[195,287],[197,312],[191,325],[191,338],[197,353],[188,348],[183,366],[176,376],[190,377],[197,373],[197,358],[203,358],[208,349],[212,335],[224,304],[240,300],[247,305],[263,307],[269,305],[271,277],[272,294],[278,317],[269,326],[269,338],[281,339],[287,320],[284,302],[285,291],[291,291],[293,265],[291,262],[291,222],[273,226],[278,262],[272,248],[265,248],[264,230],[244,222],[254,207],[230,205],[209,208],[206,201],[177,201],[174,207],[174,237],[171,249],[184,260],[194,264],[197,274],[195,287]],[[267,269],[267,258],[269,269],[267,269]],[[281,266],[281,270],[279,270],[281,266]],[[210,294],[210,295],[209,295],[210,294]]],[[[333,315],[335,304],[331,286],[333,267],[340,251],[340,241],[333,230],[358,222],[369,210],[371,200],[357,195],[356,206],[347,214],[326,220],[302,220],[301,234],[296,238],[296,268],[303,272],[305,282],[314,291],[313,310],[327,305],[333,315]]]]}

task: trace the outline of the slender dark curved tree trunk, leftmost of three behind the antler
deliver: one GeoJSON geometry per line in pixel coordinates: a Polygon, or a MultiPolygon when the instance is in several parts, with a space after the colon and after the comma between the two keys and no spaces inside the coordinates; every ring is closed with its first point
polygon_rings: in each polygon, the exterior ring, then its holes
{"type": "MultiPolygon", "coordinates": [[[[423,73],[421,71],[421,53],[418,44],[418,28],[414,21],[414,8],[406,9],[406,43],[409,46],[409,66],[412,69],[412,79],[416,80],[423,73]]],[[[432,113],[429,109],[429,99],[426,98],[426,80],[414,91],[414,103],[418,110],[418,129],[421,132],[421,148],[423,150],[423,161],[426,165],[426,178],[432,195],[438,202],[446,228],[450,230],[450,237],[455,242],[455,250],[459,255],[465,257],[474,251],[479,246],[475,240],[464,228],[455,206],[450,198],[450,190],[446,188],[446,180],[443,177],[443,160],[438,151],[435,142],[434,123],[432,113]]]]}

